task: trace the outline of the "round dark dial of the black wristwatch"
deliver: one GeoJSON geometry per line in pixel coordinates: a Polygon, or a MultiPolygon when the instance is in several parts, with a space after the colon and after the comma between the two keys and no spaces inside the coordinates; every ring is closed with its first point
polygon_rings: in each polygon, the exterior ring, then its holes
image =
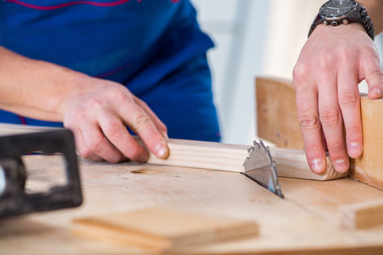
{"type": "Polygon", "coordinates": [[[326,19],[339,19],[349,16],[357,8],[355,0],[330,0],[320,7],[319,14],[326,19]]]}

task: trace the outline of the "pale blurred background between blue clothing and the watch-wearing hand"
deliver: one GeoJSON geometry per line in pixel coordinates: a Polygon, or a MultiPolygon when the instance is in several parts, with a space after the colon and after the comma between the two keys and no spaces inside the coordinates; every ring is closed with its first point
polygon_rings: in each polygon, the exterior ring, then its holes
{"type": "MultiPolygon", "coordinates": [[[[325,0],[190,1],[215,42],[208,59],[222,142],[250,145],[257,139],[254,78],[292,79],[308,29],[325,0]]],[[[383,60],[383,35],[375,42],[383,60]]]]}

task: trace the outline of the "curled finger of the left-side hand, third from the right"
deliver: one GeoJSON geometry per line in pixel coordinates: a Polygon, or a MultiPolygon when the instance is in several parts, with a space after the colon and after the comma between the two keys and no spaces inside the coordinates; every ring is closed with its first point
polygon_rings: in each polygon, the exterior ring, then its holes
{"type": "Polygon", "coordinates": [[[124,159],[118,149],[112,146],[104,137],[97,123],[80,123],[80,130],[88,149],[108,162],[117,163],[124,159]]]}

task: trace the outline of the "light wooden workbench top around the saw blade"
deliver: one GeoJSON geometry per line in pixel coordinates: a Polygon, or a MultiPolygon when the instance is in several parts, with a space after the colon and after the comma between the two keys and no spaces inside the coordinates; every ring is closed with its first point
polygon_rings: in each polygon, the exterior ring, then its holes
{"type": "MultiPolygon", "coordinates": [[[[23,158],[28,191],[62,181],[58,156],[23,158]]],[[[185,254],[383,254],[383,226],[343,229],[343,205],[382,200],[383,191],[352,179],[280,178],[281,199],[246,176],[227,171],[80,160],[85,203],[80,208],[0,221],[0,254],[149,254],[71,234],[78,217],[141,208],[254,220],[259,237],[188,249],[185,254]]]]}

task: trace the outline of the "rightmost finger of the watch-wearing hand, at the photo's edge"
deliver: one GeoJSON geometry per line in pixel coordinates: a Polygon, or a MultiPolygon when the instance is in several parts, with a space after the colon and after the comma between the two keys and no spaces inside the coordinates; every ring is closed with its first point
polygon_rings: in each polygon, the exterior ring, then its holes
{"type": "Polygon", "coordinates": [[[382,98],[383,73],[379,66],[379,59],[369,58],[367,62],[362,62],[362,67],[368,84],[368,97],[370,99],[382,98]]]}

